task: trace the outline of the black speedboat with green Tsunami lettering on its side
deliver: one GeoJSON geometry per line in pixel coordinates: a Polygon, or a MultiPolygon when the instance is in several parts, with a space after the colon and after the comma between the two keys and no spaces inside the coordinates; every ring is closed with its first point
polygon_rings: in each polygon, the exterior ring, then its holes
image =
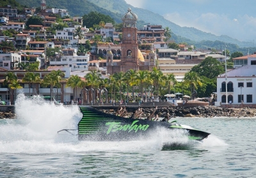
{"type": "MultiPolygon", "coordinates": [[[[149,121],[147,119],[131,119],[100,112],[93,107],[79,107],[83,117],[78,123],[78,140],[88,141],[129,141],[150,138],[157,131],[182,130],[189,140],[202,141],[210,135],[191,126],[179,124],[177,121],[149,121]]],[[[68,131],[70,130],[61,130],[68,131]]],[[[60,131],[58,131],[59,133],[60,131]]],[[[171,140],[170,140],[171,141],[171,140]]]]}

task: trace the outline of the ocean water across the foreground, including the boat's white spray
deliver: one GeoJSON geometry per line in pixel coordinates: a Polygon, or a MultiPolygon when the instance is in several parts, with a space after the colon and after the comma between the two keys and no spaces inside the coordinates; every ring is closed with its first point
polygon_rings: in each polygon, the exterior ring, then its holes
{"type": "Polygon", "coordinates": [[[175,118],[211,133],[188,147],[162,151],[166,133],[130,142],[79,142],[77,106],[16,103],[17,119],[0,120],[0,177],[256,177],[255,118],[175,118]]]}

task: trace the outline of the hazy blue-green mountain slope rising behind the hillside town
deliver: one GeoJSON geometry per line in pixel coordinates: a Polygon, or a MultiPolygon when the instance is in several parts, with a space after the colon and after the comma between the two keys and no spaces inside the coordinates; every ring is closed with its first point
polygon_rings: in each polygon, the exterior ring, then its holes
{"type": "MultiPolygon", "coordinates": [[[[40,7],[40,0],[16,0],[18,3],[26,6],[40,7]]],[[[216,36],[212,33],[205,33],[195,29],[194,27],[180,27],[169,20],[164,19],[163,16],[153,13],[152,11],[144,10],[142,8],[135,8],[127,4],[124,0],[58,0],[58,1],[47,1],[47,7],[56,7],[67,9],[71,16],[89,13],[90,11],[98,11],[106,15],[111,16],[117,23],[122,22],[121,17],[126,13],[128,8],[132,8],[132,11],[138,15],[138,28],[140,29],[143,25],[148,23],[152,25],[162,25],[163,27],[170,27],[172,30],[172,39],[176,43],[186,42],[191,45],[196,45],[196,48],[205,47],[205,41],[207,44],[215,44],[212,48],[223,48],[225,45],[232,45],[230,52],[241,51],[246,54],[248,47],[254,47],[252,42],[239,41],[230,36],[221,35],[216,36]],[[204,44],[202,44],[202,41],[204,44]],[[212,41],[210,43],[209,41],[212,41]],[[220,41],[221,43],[216,44],[214,41],[220,41]],[[241,47],[236,47],[236,45],[241,47]]],[[[208,46],[209,47],[209,46],[208,46]]],[[[256,48],[250,49],[250,51],[256,51],[256,48]]]]}

